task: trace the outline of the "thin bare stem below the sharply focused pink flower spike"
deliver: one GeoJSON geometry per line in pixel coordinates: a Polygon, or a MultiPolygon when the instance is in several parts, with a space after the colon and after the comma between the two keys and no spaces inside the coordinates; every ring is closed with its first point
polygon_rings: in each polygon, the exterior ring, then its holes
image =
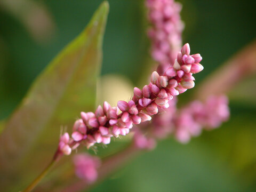
{"type": "Polygon", "coordinates": [[[44,169],[44,171],[38,175],[38,177],[32,182],[30,183],[30,185],[24,189],[22,192],[30,192],[31,190],[33,190],[38,183],[45,177],[45,175],[50,171],[50,169],[53,167],[53,165],[55,165],[55,163],[59,160],[59,158],[61,157],[59,151],[57,150],[56,153],[54,154],[54,157],[52,158],[52,161],[50,162],[50,164],[44,169]]]}

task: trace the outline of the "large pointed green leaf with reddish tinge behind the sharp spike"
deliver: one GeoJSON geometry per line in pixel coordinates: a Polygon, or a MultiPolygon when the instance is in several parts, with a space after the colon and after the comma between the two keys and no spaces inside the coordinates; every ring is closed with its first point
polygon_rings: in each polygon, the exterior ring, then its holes
{"type": "Polygon", "coordinates": [[[108,10],[103,2],[85,30],[36,78],[6,122],[0,135],[1,186],[6,180],[12,181],[6,185],[18,185],[21,178],[33,179],[57,149],[61,126],[70,130],[80,111],[94,110],[108,10]]]}

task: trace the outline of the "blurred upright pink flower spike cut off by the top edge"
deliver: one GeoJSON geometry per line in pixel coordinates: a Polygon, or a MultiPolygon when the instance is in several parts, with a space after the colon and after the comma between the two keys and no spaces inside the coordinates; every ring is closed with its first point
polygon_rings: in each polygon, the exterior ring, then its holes
{"type": "Polygon", "coordinates": [[[173,0],[146,0],[151,27],[151,55],[159,63],[157,72],[163,74],[172,66],[182,45],[184,24],[180,19],[182,5],[173,0]]]}

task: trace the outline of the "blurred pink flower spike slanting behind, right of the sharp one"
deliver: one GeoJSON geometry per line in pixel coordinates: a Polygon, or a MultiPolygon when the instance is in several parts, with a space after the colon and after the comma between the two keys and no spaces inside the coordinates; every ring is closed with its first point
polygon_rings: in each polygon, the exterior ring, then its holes
{"type": "Polygon", "coordinates": [[[225,95],[211,96],[204,103],[195,100],[180,110],[176,109],[175,100],[169,103],[172,103],[172,107],[154,118],[151,129],[142,127],[135,130],[135,146],[140,149],[154,149],[156,139],[170,135],[174,135],[181,143],[187,143],[191,137],[201,134],[203,129],[215,129],[229,118],[228,98],[225,95]]]}

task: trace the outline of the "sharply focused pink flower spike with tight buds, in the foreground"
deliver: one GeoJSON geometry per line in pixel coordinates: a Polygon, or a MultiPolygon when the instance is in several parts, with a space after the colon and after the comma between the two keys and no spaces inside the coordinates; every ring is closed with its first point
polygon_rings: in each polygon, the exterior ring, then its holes
{"type": "Polygon", "coordinates": [[[117,107],[104,102],[95,113],[81,112],[81,119],[75,122],[71,137],[68,133],[61,136],[57,154],[69,155],[81,143],[87,148],[95,143],[108,144],[111,137],[129,133],[134,124],[150,121],[158,109],[169,107],[173,96],[194,87],[193,74],[203,70],[199,64],[201,60],[199,54],[190,55],[189,44],[185,44],[173,67],[170,66],[162,76],[154,71],[151,82],[142,90],[134,87],[131,101],[118,101],[117,107]]]}

